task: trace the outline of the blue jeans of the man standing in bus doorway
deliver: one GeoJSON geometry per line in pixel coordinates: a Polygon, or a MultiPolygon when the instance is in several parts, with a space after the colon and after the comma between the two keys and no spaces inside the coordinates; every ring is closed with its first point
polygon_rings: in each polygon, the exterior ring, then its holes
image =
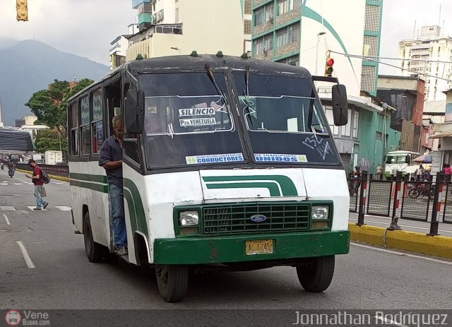
{"type": "Polygon", "coordinates": [[[124,217],[124,189],[110,184],[114,246],[127,246],[126,219],[124,217]]]}

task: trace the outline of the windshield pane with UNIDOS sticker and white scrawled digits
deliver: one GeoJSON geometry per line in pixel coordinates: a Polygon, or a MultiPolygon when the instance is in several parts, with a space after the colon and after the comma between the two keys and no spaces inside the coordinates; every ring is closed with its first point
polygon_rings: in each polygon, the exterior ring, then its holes
{"type": "Polygon", "coordinates": [[[309,79],[234,73],[234,83],[256,162],[340,163],[309,79]]]}

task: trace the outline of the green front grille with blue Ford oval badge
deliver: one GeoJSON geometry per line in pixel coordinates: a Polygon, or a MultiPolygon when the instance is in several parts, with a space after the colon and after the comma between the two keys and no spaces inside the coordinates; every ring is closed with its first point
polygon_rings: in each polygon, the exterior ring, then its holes
{"type": "Polygon", "coordinates": [[[203,208],[203,234],[258,234],[309,229],[309,204],[244,204],[203,208]],[[265,220],[254,222],[252,216],[265,220]]]}

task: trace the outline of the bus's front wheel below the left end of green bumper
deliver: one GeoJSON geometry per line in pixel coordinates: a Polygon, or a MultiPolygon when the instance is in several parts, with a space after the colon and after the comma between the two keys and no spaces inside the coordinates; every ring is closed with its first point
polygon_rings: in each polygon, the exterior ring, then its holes
{"type": "Polygon", "coordinates": [[[189,268],[181,265],[157,265],[157,286],[166,302],[181,302],[189,283],[189,268]]]}

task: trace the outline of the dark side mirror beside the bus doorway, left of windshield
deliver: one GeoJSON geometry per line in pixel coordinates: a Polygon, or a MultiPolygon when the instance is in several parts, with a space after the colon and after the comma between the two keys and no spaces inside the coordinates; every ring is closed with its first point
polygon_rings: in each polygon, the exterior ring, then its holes
{"type": "Polygon", "coordinates": [[[142,133],[144,120],[144,93],[142,90],[128,90],[126,99],[126,133],[142,133]]]}

